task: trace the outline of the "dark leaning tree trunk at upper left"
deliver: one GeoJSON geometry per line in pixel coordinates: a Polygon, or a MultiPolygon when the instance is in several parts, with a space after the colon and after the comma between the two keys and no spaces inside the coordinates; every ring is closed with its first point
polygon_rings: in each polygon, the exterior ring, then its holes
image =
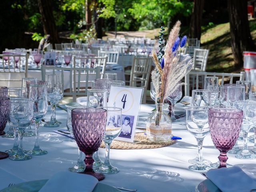
{"type": "Polygon", "coordinates": [[[60,39],[52,13],[51,0],[38,0],[38,6],[42,15],[44,34],[50,35],[50,42],[54,47],[55,43],[60,42],[60,39]]]}

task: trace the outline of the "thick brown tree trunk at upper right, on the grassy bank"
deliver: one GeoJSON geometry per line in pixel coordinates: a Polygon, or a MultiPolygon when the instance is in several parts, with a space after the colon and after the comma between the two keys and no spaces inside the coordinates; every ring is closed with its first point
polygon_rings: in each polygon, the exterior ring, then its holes
{"type": "Polygon", "coordinates": [[[228,0],[230,35],[235,66],[243,66],[243,51],[255,51],[250,34],[246,0],[228,0]]]}

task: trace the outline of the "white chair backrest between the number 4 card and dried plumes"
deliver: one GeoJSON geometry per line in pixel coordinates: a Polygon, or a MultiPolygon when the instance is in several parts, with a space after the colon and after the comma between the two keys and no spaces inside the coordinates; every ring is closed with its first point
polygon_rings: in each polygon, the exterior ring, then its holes
{"type": "Polygon", "coordinates": [[[143,87],[143,99],[142,102],[146,103],[146,92],[148,88],[148,81],[150,77],[150,71],[153,60],[151,57],[141,58],[134,57],[132,63],[132,70],[130,75],[130,86],[143,87]]]}

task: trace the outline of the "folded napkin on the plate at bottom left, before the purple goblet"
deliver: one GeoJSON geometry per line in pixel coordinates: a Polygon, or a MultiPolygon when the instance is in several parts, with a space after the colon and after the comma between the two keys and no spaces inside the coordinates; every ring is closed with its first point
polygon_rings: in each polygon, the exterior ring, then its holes
{"type": "Polygon", "coordinates": [[[97,183],[94,176],[62,171],[54,174],[39,192],[92,192],[97,183]]]}

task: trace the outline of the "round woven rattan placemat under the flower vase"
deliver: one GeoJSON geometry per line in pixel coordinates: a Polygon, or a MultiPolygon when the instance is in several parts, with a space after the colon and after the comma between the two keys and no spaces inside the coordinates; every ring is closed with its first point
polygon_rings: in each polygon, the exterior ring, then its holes
{"type": "MultiPolygon", "coordinates": [[[[113,141],[111,143],[111,149],[152,149],[169,146],[176,143],[176,140],[171,140],[170,142],[161,142],[156,143],[150,140],[147,140],[144,133],[136,133],[134,138],[134,143],[122,142],[122,141],[113,141]]],[[[105,148],[104,142],[100,145],[101,148],[105,148]]]]}

